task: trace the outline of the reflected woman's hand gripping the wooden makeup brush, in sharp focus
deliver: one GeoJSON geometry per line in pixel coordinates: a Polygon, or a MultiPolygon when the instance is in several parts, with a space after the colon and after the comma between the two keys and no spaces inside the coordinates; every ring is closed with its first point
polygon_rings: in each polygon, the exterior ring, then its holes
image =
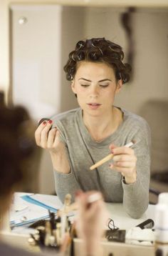
{"type": "Polygon", "coordinates": [[[134,183],[137,179],[137,157],[135,156],[134,149],[130,147],[116,147],[114,144],[110,144],[110,150],[114,154],[110,168],[121,172],[127,184],[134,183]]]}

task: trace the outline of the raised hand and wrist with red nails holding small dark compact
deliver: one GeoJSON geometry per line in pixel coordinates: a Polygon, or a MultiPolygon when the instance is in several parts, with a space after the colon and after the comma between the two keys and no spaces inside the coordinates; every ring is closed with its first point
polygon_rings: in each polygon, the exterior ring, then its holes
{"type": "Polygon", "coordinates": [[[51,153],[53,168],[58,172],[68,174],[70,165],[65,152],[65,145],[61,142],[57,127],[52,127],[52,120],[43,121],[35,132],[36,144],[51,153]]]}

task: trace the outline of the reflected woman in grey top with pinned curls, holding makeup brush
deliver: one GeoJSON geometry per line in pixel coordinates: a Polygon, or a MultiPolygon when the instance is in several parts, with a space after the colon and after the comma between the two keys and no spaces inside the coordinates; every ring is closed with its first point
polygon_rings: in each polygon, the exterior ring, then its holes
{"type": "Polygon", "coordinates": [[[96,189],[138,218],[148,206],[150,132],[142,117],[114,105],[130,79],[123,58],[121,46],[105,38],[78,41],[64,70],[80,108],[44,121],[35,137],[51,153],[61,200],[77,189],[96,189]],[[132,140],[132,148],[123,147],[132,140]],[[90,171],[110,152],[112,161],[90,171]]]}

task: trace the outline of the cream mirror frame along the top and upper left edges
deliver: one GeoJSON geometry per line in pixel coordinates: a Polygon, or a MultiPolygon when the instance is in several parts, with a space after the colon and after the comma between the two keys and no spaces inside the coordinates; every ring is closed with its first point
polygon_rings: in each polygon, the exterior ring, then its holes
{"type": "Polygon", "coordinates": [[[167,0],[3,0],[0,1],[0,90],[6,94],[6,102],[11,87],[11,41],[10,6],[11,4],[61,4],[68,6],[114,6],[114,7],[168,7],[167,0]]]}

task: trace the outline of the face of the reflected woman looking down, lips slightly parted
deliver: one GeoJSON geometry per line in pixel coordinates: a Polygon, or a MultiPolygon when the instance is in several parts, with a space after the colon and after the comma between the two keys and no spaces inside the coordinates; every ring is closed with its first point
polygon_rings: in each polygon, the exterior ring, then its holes
{"type": "Polygon", "coordinates": [[[71,86],[83,112],[99,116],[111,112],[122,80],[116,82],[114,70],[105,63],[81,61],[71,86]]]}

